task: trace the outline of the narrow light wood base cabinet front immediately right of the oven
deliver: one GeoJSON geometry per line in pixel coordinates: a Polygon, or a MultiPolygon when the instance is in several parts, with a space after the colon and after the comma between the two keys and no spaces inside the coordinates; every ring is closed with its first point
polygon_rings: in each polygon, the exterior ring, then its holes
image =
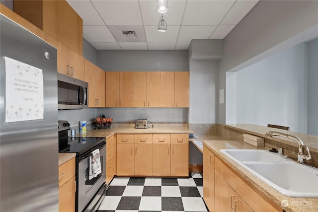
{"type": "Polygon", "coordinates": [[[106,182],[114,178],[114,164],[115,164],[115,142],[116,137],[111,136],[106,141],[106,182]]]}

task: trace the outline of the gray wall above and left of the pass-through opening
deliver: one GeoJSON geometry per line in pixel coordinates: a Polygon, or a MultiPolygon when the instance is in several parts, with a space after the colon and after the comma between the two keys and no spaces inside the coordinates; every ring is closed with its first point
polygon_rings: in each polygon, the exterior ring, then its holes
{"type": "MultiPolygon", "coordinates": [[[[226,71],[238,71],[297,44],[285,41],[317,25],[317,11],[318,1],[259,1],[224,40],[219,89],[226,88],[226,71]]],[[[225,113],[226,105],[220,104],[218,123],[225,123],[225,113]]]]}

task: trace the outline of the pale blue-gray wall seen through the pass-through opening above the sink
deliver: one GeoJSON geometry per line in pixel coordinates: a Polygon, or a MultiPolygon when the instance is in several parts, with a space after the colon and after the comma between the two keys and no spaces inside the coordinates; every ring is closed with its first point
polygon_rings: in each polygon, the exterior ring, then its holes
{"type": "MultiPolygon", "coordinates": [[[[233,89],[237,99],[237,107],[233,108],[237,111],[236,123],[282,125],[307,134],[307,43],[288,48],[236,74],[237,85],[233,89]]],[[[227,91],[229,94],[230,90],[227,91]]]]}

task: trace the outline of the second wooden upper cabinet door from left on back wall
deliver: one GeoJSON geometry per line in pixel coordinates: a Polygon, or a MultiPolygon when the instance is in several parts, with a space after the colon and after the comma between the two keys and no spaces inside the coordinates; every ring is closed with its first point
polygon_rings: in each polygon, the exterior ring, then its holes
{"type": "Polygon", "coordinates": [[[119,72],[119,106],[133,107],[133,72],[119,72]]]}

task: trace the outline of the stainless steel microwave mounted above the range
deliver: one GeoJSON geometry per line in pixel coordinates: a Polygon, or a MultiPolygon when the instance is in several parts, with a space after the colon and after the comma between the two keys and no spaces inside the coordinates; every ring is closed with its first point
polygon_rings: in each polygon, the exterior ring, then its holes
{"type": "Polygon", "coordinates": [[[88,108],[88,83],[58,73],[58,109],[88,108]]]}

